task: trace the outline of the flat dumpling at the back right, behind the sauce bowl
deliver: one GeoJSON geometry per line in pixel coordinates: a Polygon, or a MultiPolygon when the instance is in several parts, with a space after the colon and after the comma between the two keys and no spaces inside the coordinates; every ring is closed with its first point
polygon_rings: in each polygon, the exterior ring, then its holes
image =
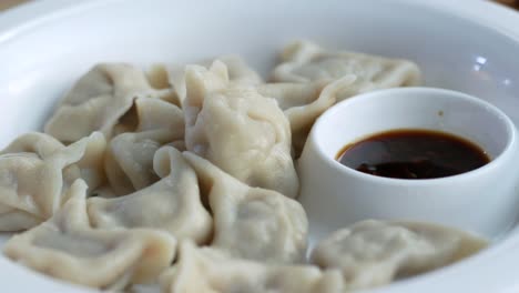
{"type": "Polygon", "coordinates": [[[308,41],[291,43],[283,50],[282,63],[274,69],[272,79],[277,82],[311,82],[336,80],[347,74],[357,79],[340,91],[338,101],[372,90],[420,83],[420,70],[409,60],[327,51],[308,41]]]}

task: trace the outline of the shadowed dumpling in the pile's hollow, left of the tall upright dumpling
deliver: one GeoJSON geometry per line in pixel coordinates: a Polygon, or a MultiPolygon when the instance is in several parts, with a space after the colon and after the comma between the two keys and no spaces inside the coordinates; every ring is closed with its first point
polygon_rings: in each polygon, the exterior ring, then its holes
{"type": "Polygon", "coordinates": [[[119,195],[156,182],[159,176],[152,166],[155,151],[184,139],[184,114],[176,105],[160,99],[139,98],[135,109],[135,127],[132,132],[121,133],[110,141],[104,161],[110,186],[119,195]]]}

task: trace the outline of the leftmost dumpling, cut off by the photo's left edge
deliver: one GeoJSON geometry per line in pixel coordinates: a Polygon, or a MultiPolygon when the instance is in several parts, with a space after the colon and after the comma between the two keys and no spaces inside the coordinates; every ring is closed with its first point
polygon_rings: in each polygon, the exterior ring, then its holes
{"type": "Polygon", "coordinates": [[[0,231],[19,231],[49,219],[75,179],[91,189],[104,182],[106,142],[93,133],[69,146],[50,135],[28,133],[0,152],[0,231]]]}

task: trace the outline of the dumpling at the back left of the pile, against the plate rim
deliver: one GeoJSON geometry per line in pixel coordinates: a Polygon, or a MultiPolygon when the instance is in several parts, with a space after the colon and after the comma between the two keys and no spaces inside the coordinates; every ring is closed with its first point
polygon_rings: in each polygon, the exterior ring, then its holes
{"type": "Polygon", "coordinates": [[[112,137],[113,127],[130,110],[133,99],[159,97],[144,72],[125,63],[101,63],[86,72],[58,104],[44,131],[70,143],[93,131],[112,137]]]}

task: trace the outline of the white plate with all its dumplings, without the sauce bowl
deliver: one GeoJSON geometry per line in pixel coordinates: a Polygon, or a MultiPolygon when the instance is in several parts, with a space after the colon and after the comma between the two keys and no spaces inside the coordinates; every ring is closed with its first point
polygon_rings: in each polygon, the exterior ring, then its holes
{"type": "Polygon", "coordinates": [[[512,112],[502,80],[519,67],[489,43],[519,41],[439,2],[50,0],[0,14],[6,292],[464,291],[506,259],[513,228],[365,219],[316,239],[298,201],[305,142],[340,101],[441,87],[512,112]],[[449,26],[459,50],[440,48],[449,26]],[[460,58],[476,31],[488,69],[460,58]]]}

